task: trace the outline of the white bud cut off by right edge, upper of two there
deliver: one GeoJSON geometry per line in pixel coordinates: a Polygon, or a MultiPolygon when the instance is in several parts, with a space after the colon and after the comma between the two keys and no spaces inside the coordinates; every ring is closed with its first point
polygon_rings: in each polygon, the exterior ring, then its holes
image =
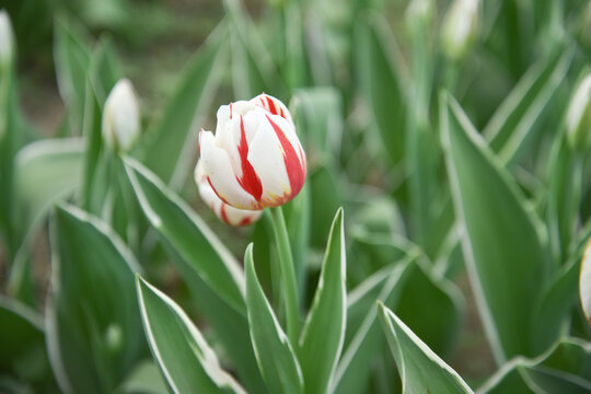
{"type": "Polygon", "coordinates": [[[577,86],[568,105],[567,139],[571,149],[591,148],[591,73],[577,86]]]}

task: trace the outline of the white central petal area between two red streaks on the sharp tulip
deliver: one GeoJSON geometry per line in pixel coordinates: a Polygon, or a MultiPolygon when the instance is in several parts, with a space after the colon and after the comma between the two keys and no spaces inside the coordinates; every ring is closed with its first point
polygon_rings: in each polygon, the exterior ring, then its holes
{"type": "Polygon", "coordinates": [[[281,144],[268,121],[260,125],[251,143],[248,162],[263,185],[262,199],[276,199],[291,193],[281,144]]]}

